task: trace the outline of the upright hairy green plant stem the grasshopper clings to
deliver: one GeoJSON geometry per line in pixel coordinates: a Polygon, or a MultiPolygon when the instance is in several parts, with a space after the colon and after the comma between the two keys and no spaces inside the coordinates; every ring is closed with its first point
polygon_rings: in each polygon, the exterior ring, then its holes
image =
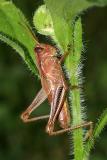
{"type": "MultiPolygon", "coordinates": [[[[72,113],[71,113],[71,127],[77,126],[83,123],[82,120],[82,108],[81,108],[81,97],[79,84],[79,65],[82,51],[82,25],[81,19],[79,18],[75,22],[74,26],[74,42],[73,49],[71,49],[71,54],[66,60],[66,67],[70,72],[70,84],[71,86],[77,86],[70,92],[71,102],[72,102],[72,113]]],[[[79,128],[73,131],[73,148],[74,148],[74,159],[83,160],[83,129],[79,128]]]]}

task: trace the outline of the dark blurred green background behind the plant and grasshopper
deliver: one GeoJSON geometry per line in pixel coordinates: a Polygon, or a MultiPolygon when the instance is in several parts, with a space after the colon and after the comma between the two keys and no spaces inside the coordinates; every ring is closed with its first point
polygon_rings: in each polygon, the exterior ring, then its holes
{"type": "MultiPolygon", "coordinates": [[[[41,0],[13,0],[32,23],[41,0]]],[[[84,94],[88,120],[96,122],[107,108],[107,7],[92,8],[82,14],[84,94]]],[[[63,35],[62,35],[63,36],[63,35]]],[[[67,160],[67,135],[49,137],[46,121],[24,124],[20,114],[41,88],[40,81],[27,69],[12,48],[0,42],[0,160],[67,160]]],[[[38,114],[49,111],[45,102],[38,114]]],[[[72,156],[71,156],[72,157],[72,156]]],[[[92,160],[107,159],[107,128],[104,129],[92,160]]]]}

